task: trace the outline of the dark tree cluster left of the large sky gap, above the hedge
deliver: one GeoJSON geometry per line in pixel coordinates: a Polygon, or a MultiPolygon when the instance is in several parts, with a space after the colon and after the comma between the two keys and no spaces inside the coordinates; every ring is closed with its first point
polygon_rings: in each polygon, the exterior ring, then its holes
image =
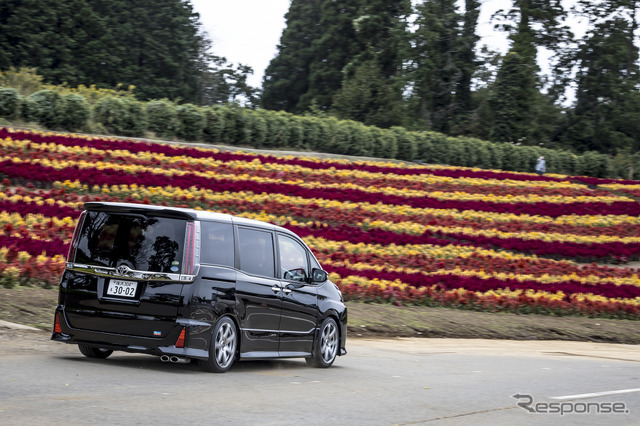
{"type": "Polygon", "coordinates": [[[252,70],[211,55],[185,0],[3,0],[0,70],[35,68],[47,83],[135,86],[142,99],[254,99],[252,70]]]}

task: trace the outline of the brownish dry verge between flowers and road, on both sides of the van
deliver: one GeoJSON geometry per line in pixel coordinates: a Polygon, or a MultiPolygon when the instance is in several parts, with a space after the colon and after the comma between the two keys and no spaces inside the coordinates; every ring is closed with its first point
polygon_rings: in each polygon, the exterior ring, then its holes
{"type": "MultiPolygon", "coordinates": [[[[53,327],[57,289],[0,288],[0,320],[53,327]]],[[[348,302],[349,337],[573,340],[640,344],[640,322],[348,302]]],[[[0,326],[2,334],[2,326],[0,326]]]]}

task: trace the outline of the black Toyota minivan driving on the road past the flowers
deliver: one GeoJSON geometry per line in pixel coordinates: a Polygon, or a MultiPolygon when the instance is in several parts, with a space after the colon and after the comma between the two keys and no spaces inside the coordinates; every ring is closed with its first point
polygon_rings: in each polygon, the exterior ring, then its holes
{"type": "Polygon", "coordinates": [[[346,354],[340,290],[293,232],[202,210],[84,208],[52,340],[91,358],[147,353],[213,372],[292,357],[329,367],[346,354]]]}

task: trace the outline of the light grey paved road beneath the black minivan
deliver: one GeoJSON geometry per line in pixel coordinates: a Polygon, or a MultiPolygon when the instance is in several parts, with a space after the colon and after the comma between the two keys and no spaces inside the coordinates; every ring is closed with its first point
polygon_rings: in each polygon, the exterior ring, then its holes
{"type": "Polygon", "coordinates": [[[46,333],[0,330],[0,423],[640,424],[638,346],[350,339],[347,349],[327,370],[254,361],[212,374],[146,355],[90,360],[46,333]]]}

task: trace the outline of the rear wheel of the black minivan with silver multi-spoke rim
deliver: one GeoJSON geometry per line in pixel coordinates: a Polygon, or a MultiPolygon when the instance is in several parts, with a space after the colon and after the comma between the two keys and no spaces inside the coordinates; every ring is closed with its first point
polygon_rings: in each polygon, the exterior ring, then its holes
{"type": "Polygon", "coordinates": [[[224,373],[231,368],[238,350],[238,329],[229,317],[216,323],[209,345],[209,359],[199,360],[200,367],[213,373],[224,373]]]}

